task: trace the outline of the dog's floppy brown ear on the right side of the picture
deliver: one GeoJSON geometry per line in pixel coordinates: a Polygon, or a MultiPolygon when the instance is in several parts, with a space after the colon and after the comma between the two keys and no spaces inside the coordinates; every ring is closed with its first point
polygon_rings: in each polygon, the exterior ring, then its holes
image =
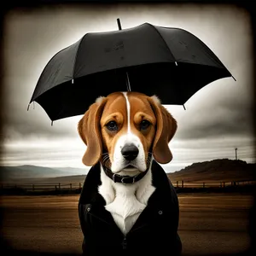
{"type": "Polygon", "coordinates": [[[160,104],[156,96],[148,97],[148,102],[154,110],[156,117],[156,133],[153,143],[154,159],[160,164],[166,164],[172,160],[172,152],[168,146],[177,131],[176,119],[160,104]]]}

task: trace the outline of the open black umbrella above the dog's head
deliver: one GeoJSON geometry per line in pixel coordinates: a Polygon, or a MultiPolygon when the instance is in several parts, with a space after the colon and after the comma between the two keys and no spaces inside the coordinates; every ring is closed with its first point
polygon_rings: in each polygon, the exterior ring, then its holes
{"type": "Polygon", "coordinates": [[[162,104],[183,105],[196,91],[232,77],[199,38],[181,28],[144,23],[86,33],[55,54],[38,79],[31,102],[54,121],[83,114],[97,96],[138,91],[162,104]]]}

